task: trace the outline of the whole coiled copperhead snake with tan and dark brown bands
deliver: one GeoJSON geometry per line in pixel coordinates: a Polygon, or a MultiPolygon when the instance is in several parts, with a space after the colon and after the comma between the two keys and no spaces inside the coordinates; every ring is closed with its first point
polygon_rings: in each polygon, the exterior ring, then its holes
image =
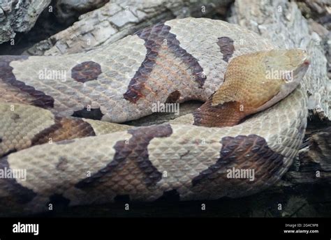
{"type": "Polygon", "coordinates": [[[302,144],[308,66],[304,50],[191,17],[88,52],[0,56],[0,212],[265,190],[302,144]],[[204,103],[166,123],[123,124],[187,100],[204,103]]]}

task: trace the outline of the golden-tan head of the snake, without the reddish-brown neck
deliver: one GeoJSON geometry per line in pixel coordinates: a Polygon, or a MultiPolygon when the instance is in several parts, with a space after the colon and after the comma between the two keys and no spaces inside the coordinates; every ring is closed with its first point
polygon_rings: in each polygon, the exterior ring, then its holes
{"type": "Polygon", "coordinates": [[[304,50],[270,50],[244,54],[230,61],[212,106],[240,103],[244,116],[265,110],[288,96],[309,66],[304,50]]]}

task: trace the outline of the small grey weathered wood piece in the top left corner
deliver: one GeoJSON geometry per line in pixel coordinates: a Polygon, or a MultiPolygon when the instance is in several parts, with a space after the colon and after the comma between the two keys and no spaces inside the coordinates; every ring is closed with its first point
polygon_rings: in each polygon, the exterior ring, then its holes
{"type": "Polygon", "coordinates": [[[29,31],[51,0],[1,0],[0,43],[15,37],[16,32],[29,31]]]}

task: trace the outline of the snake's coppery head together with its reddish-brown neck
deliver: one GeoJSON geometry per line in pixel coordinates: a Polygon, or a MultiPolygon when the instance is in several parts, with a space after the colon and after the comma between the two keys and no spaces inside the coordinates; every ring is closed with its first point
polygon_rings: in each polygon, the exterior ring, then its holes
{"type": "Polygon", "coordinates": [[[304,50],[271,50],[230,61],[224,83],[193,113],[194,124],[235,126],[288,96],[302,80],[309,61],[304,50]]]}

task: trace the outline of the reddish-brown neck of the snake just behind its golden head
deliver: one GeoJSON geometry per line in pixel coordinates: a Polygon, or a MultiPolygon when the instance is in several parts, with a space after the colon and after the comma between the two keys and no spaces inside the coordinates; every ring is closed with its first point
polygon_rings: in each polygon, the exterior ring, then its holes
{"type": "Polygon", "coordinates": [[[193,112],[193,125],[218,128],[235,126],[246,116],[243,105],[237,101],[213,106],[212,99],[209,99],[193,112]]]}

